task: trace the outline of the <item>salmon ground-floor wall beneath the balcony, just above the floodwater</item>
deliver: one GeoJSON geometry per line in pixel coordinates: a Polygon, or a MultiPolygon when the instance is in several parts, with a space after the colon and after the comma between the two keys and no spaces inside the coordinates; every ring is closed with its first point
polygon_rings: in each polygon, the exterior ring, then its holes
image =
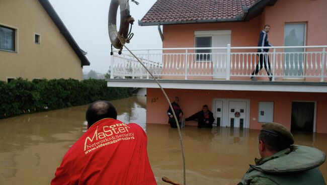
{"type": "MultiPolygon", "coordinates": [[[[327,94],[324,93],[287,93],[269,91],[229,91],[229,90],[196,90],[196,89],[166,89],[170,100],[174,96],[180,98],[180,106],[185,118],[202,110],[207,104],[212,110],[213,99],[248,99],[250,100],[250,129],[260,129],[258,122],[259,102],[274,102],[274,122],[291,127],[292,101],[316,102],[316,132],[327,133],[327,94]]],[[[147,88],[146,122],[168,123],[168,103],[158,88],[147,88]]],[[[249,111],[249,110],[247,110],[249,111]]],[[[186,122],[186,125],[197,125],[196,122],[186,122]]]]}

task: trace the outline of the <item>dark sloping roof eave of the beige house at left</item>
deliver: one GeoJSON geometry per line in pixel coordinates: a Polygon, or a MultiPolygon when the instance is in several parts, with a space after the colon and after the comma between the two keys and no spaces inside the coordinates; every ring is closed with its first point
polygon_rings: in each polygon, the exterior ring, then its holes
{"type": "Polygon", "coordinates": [[[50,2],[48,0],[39,0],[40,4],[44,8],[44,10],[48,13],[54,24],[58,27],[60,30],[60,33],[64,36],[64,38],[69,43],[70,47],[74,50],[78,58],[80,59],[81,66],[84,65],[90,65],[90,61],[88,58],[84,55],[83,51],[79,48],[73,37],[70,35],[68,29],[65,27],[63,22],[61,21],[58,14],[55,12],[53,7],[51,6],[50,2]]]}

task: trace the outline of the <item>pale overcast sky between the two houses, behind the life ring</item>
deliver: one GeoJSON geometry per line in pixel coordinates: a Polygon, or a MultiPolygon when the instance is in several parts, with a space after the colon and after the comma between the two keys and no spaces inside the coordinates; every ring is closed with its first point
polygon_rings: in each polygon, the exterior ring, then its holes
{"type": "MultiPolygon", "coordinates": [[[[110,65],[110,40],[108,35],[108,12],[110,0],[49,0],[78,46],[87,51],[91,62],[83,71],[91,69],[106,73],[110,65]]],[[[135,22],[134,37],[127,45],[129,49],[161,48],[162,42],[157,26],[138,26],[156,0],[129,2],[130,14],[135,22]]],[[[119,11],[118,11],[119,12],[119,11]]],[[[117,19],[119,19],[119,15],[117,19]]],[[[118,20],[119,22],[119,20],[118,20]]],[[[118,28],[117,28],[118,29],[118,28]]]]}

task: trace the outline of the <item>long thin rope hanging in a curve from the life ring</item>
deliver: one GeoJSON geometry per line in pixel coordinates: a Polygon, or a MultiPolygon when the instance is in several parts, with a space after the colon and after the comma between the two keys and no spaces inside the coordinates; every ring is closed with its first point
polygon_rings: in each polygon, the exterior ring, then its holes
{"type": "MultiPolygon", "coordinates": [[[[119,38],[119,37],[118,37],[119,38]]],[[[125,46],[125,40],[126,39],[124,39],[124,37],[121,37],[122,38],[122,40],[121,40],[121,44],[123,45],[123,46],[125,46]]],[[[125,48],[136,58],[136,60],[145,68],[145,70],[152,76],[152,78],[155,80],[155,82],[159,85],[159,87],[160,87],[160,89],[161,89],[161,91],[162,91],[162,93],[163,93],[163,95],[165,95],[165,97],[166,97],[166,100],[167,100],[167,102],[169,103],[169,107],[172,109],[172,112],[173,112],[173,115],[174,115],[174,118],[175,118],[175,121],[176,121],[176,123],[177,123],[177,130],[178,130],[178,134],[179,134],[179,136],[180,136],[180,143],[181,143],[181,148],[182,148],[182,158],[183,158],[183,176],[184,176],[184,185],[186,185],[186,169],[185,169],[185,154],[184,154],[184,144],[183,144],[183,137],[182,137],[182,133],[181,133],[181,128],[180,128],[180,124],[179,124],[179,122],[178,122],[178,120],[177,120],[177,117],[176,117],[176,114],[175,114],[175,111],[173,111],[174,109],[173,109],[173,106],[172,106],[172,104],[171,104],[171,102],[169,101],[169,98],[168,98],[168,96],[167,96],[167,94],[166,94],[166,91],[161,87],[161,85],[160,85],[160,83],[158,82],[158,80],[153,76],[153,74],[149,71],[149,69],[140,61],[140,59],[139,58],[137,58],[135,55],[134,55],[134,53],[132,53],[132,51],[131,50],[129,50],[126,46],[125,46],[125,48]]]]}

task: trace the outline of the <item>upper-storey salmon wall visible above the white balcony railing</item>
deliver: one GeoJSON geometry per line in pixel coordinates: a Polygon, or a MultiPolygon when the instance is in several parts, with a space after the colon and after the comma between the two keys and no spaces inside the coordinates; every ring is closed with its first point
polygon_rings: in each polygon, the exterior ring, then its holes
{"type": "Polygon", "coordinates": [[[257,46],[260,30],[271,25],[269,40],[284,46],[285,23],[306,23],[306,45],[326,45],[325,0],[284,0],[249,22],[163,25],[163,48],[194,47],[194,31],[231,30],[231,46],[257,46]],[[313,14],[314,12],[314,14],[313,14]]]}

